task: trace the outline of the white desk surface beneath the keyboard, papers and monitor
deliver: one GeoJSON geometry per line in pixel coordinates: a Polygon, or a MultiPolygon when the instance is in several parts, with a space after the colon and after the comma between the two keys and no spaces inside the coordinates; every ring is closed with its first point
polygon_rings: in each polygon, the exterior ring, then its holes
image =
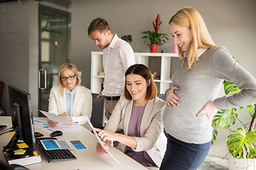
{"type": "MultiPolygon", "coordinates": [[[[46,118],[34,118],[35,120],[46,120],[46,118]]],[[[0,125],[7,125],[7,128],[11,127],[11,117],[10,116],[1,116],[0,117],[0,125]]],[[[43,130],[36,129],[36,132],[43,133],[44,137],[49,137],[47,132],[43,130]]],[[[96,152],[96,144],[97,138],[93,135],[89,130],[85,128],[81,128],[79,132],[64,132],[62,136],[56,137],[58,140],[80,140],[82,141],[88,149],[85,150],[71,150],[71,152],[77,157],[75,160],[68,160],[68,161],[58,161],[58,162],[47,162],[47,159],[44,155],[41,154],[42,162],[40,164],[33,164],[26,166],[28,169],[75,169],[75,170],[82,170],[82,169],[90,169],[90,170],[106,170],[106,169],[146,169],[141,164],[137,163],[126,154],[120,152],[118,149],[110,146],[110,153],[119,161],[121,165],[110,157],[108,154],[98,154],[96,152]]],[[[9,133],[0,136],[0,147],[1,151],[3,146],[7,145],[7,143],[11,140],[11,136],[9,133]]],[[[5,160],[4,154],[0,153],[0,159],[5,160]]]]}

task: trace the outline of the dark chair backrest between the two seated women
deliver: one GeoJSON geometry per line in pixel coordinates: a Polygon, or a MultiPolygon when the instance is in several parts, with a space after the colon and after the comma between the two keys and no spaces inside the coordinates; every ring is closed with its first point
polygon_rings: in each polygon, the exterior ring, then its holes
{"type": "Polygon", "coordinates": [[[92,116],[90,121],[95,128],[105,127],[105,97],[100,96],[97,98],[97,94],[92,94],[92,116]]]}

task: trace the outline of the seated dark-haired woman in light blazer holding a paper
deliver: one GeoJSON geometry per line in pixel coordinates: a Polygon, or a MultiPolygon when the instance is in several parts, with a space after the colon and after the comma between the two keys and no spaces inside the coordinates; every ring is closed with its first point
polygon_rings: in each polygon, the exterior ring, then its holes
{"type": "MultiPolygon", "coordinates": [[[[166,106],[156,98],[157,88],[150,70],[134,64],[125,73],[124,96],[115,106],[104,130],[97,130],[108,149],[111,141],[126,145],[124,153],[144,166],[159,167],[166,150],[162,114],[166,106]],[[124,135],[116,133],[119,128],[124,135]]],[[[97,144],[97,152],[106,153],[97,144]]]]}

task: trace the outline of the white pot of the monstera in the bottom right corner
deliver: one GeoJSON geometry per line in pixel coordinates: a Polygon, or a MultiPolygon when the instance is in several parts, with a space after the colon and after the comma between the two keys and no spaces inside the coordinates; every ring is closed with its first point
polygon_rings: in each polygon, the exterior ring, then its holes
{"type": "Polygon", "coordinates": [[[256,159],[235,159],[233,157],[230,157],[229,166],[230,166],[230,170],[238,170],[238,169],[255,170],[256,159]]]}

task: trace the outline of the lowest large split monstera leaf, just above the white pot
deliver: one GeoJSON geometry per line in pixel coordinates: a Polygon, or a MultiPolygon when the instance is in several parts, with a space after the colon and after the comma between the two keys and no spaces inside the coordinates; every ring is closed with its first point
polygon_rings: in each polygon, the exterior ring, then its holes
{"type": "Polygon", "coordinates": [[[245,132],[245,128],[233,129],[230,132],[235,132],[235,134],[227,137],[227,147],[230,154],[238,159],[255,157],[256,132],[245,132]]]}

